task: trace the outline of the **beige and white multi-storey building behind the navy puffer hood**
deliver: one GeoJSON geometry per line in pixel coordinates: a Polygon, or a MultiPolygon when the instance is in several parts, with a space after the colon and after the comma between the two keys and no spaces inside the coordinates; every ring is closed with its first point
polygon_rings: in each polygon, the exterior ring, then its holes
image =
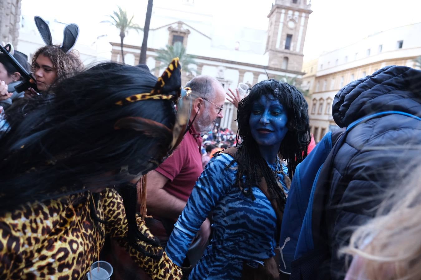
{"type": "MultiPolygon", "coordinates": [[[[316,142],[338,128],[333,121],[332,105],[342,87],[386,65],[414,67],[413,60],[421,55],[421,37],[417,34],[421,34],[421,23],[379,32],[318,58],[309,102],[310,128],[316,142]]],[[[308,79],[312,76],[307,71],[303,68],[306,72],[303,84],[308,82],[306,76],[308,79]]]]}

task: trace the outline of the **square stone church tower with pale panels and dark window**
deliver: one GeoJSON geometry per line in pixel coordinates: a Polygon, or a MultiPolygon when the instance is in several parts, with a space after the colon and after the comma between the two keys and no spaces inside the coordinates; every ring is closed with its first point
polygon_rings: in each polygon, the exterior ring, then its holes
{"type": "Polygon", "coordinates": [[[269,15],[265,53],[269,66],[300,71],[311,0],[275,0],[269,15]]]}

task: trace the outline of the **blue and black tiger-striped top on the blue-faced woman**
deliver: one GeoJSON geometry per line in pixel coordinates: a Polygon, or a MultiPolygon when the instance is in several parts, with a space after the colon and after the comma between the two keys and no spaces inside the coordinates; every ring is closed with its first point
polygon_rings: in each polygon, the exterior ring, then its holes
{"type": "MultiPolygon", "coordinates": [[[[278,242],[274,209],[257,186],[253,187],[254,201],[233,186],[237,163],[225,169],[232,160],[229,154],[220,154],[206,165],[165,249],[170,259],[181,265],[200,225],[212,215],[210,245],[189,279],[241,279],[243,260],[274,256],[278,242]]],[[[288,174],[287,167],[282,168],[288,174]]],[[[278,176],[286,189],[283,175],[278,176]]]]}

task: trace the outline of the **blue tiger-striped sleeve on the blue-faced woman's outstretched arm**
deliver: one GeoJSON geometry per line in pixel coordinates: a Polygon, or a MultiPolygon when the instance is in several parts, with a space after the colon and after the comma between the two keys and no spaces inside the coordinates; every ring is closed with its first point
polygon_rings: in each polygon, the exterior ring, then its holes
{"type": "Polygon", "coordinates": [[[229,154],[214,157],[206,165],[200,178],[197,179],[165,249],[168,257],[175,264],[180,266],[183,263],[189,245],[203,221],[232,186],[235,172],[232,167],[225,170],[232,160],[233,158],[229,154]]]}

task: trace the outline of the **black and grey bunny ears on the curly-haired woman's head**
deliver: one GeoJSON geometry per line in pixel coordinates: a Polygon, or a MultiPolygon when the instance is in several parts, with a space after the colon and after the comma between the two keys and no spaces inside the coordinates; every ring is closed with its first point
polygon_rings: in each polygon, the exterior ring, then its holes
{"type": "MultiPolygon", "coordinates": [[[[40,16],[35,16],[35,25],[37,26],[38,31],[43,38],[43,41],[46,45],[53,45],[53,40],[51,39],[51,32],[48,23],[43,20],[40,16]]],[[[79,26],[77,24],[67,24],[64,27],[64,34],[63,34],[63,43],[61,44],[61,50],[63,52],[68,53],[70,52],[73,47],[75,47],[77,37],[79,36],[79,26]]]]}

